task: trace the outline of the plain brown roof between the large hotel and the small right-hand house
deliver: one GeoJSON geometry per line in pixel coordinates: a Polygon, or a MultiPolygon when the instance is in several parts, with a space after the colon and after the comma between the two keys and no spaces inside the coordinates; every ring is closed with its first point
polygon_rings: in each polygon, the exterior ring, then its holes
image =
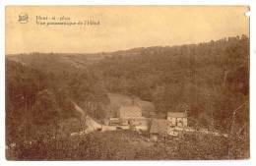
{"type": "Polygon", "coordinates": [[[151,134],[161,134],[167,133],[167,120],[165,119],[153,119],[151,125],[151,134]]]}

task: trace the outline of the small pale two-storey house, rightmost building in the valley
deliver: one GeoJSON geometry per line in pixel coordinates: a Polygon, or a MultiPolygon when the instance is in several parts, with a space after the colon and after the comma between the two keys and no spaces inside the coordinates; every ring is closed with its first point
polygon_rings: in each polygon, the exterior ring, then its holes
{"type": "Polygon", "coordinates": [[[187,113],[186,112],[168,112],[167,121],[170,127],[187,127],[187,113]]]}

